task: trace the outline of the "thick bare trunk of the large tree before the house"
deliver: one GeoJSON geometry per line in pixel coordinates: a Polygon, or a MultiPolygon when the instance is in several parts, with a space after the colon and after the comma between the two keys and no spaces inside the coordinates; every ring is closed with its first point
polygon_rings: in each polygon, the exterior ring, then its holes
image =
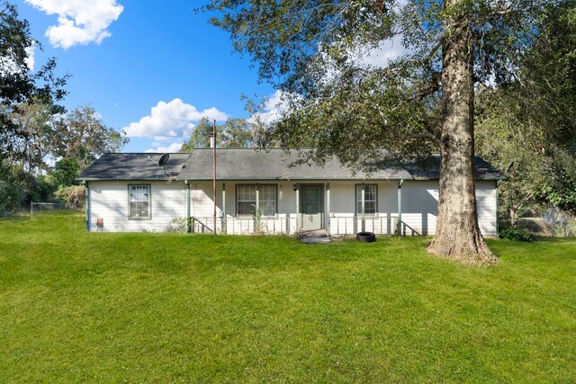
{"type": "Polygon", "coordinates": [[[428,252],[491,264],[476,211],[473,135],[473,34],[465,0],[447,0],[442,68],[442,138],[436,236],[428,252]]]}

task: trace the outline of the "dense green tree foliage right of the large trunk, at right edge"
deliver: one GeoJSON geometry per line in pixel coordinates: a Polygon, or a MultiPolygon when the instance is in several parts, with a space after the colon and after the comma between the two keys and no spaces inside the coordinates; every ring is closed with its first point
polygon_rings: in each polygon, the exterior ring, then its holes
{"type": "Polygon", "coordinates": [[[479,153],[507,170],[501,208],[519,215],[554,205],[576,213],[576,6],[550,2],[519,70],[478,92],[479,153]]]}

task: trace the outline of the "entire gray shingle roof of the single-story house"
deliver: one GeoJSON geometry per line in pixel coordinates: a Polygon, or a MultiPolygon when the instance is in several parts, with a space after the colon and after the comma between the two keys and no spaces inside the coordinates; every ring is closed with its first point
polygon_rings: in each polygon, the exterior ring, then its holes
{"type": "MultiPolygon", "coordinates": [[[[270,149],[217,149],[216,176],[219,180],[437,180],[439,156],[426,165],[409,162],[403,166],[379,165],[371,174],[357,172],[329,159],[319,165],[293,165],[304,151],[270,149]]],[[[80,174],[78,180],[166,180],[157,165],[160,154],[105,154],[80,174]]],[[[500,180],[504,177],[476,156],[476,179],[500,180]]],[[[171,154],[168,174],[178,180],[211,180],[212,150],[194,149],[190,154],[171,154]]]]}

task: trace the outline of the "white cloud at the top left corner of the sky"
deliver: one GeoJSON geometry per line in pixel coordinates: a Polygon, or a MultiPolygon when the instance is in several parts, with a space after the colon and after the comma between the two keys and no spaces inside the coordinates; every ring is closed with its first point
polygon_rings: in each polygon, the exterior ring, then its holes
{"type": "Polygon", "coordinates": [[[116,0],[25,0],[47,14],[58,14],[58,25],[46,31],[50,44],[68,49],[77,44],[100,44],[111,36],[107,28],[124,10],[116,0]]]}

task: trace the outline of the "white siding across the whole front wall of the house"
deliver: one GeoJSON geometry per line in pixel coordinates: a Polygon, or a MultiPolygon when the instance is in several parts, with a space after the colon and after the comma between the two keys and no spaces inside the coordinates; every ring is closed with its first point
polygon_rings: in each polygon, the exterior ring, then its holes
{"type": "MultiPolygon", "coordinates": [[[[255,219],[238,218],[236,207],[237,184],[254,182],[218,182],[216,191],[217,223],[220,231],[222,211],[225,210],[225,227],[229,234],[247,234],[254,231],[255,219]],[[222,189],[225,184],[225,204],[222,189]]],[[[293,234],[297,231],[296,182],[258,182],[276,185],[277,214],[264,217],[261,229],[268,233],[293,234]]],[[[331,234],[354,235],[362,230],[362,219],[356,218],[356,185],[361,182],[321,183],[324,185],[325,224],[331,234]],[[327,196],[329,184],[329,199],[327,196]]],[[[378,212],[365,217],[365,230],[392,235],[398,219],[398,182],[366,182],[377,184],[378,212]]],[[[104,231],[163,231],[172,219],[186,215],[184,183],[153,182],[151,186],[152,208],[150,220],[128,219],[128,184],[115,182],[90,182],[91,216],[90,228],[96,230],[96,219],[104,219],[104,231]]],[[[136,184],[136,183],[131,183],[136,184]]],[[[302,183],[301,183],[302,184],[302,183]]],[[[319,183],[315,183],[319,184],[319,183]]],[[[495,236],[497,196],[495,182],[476,183],[478,220],[484,236],[495,236]]],[[[436,230],[438,182],[407,181],[402,186],[402,234],[406,236],[433,235],[436,230]]],[[[190,215],[194,218],[194,230],[211,232],[212,183],[190,184],[190,215]]]]}

